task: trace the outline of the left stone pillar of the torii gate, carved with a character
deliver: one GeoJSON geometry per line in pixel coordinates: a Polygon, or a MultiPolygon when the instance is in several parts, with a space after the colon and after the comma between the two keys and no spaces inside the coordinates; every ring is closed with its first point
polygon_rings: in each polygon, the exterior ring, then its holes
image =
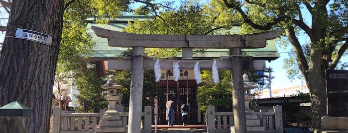
{"type": "Polygon", "coordinates": [[[144,80],[144,47],[133,47],[130,75],[128,133],[140,133],[142,87],[144,80]]]}

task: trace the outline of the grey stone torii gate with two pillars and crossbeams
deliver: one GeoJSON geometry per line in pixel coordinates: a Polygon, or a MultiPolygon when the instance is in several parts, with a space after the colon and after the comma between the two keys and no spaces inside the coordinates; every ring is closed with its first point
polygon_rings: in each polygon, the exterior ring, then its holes
{"type": "MultiPolygon", "coordinates": [[[[234,128],[236,133],[246,133],[244,88],[242,78],[243,56],[241,49],[266,47],[266,40],[275,39],[281,29],[247,35],[154,35],[111,31],[92,26],[98,37],[108,38],[112,47],[132,48],[131,60],[109,60],[110,69],[131,69],[128,133],[140,133],[144,69],[153,69],[155,60],[144,60],[145,48],[182,48],[180,69],[193,69],[193,48],[230,49],[229,60],[217,61],[219,70],[230,69],[234,128]]],[[[178,60],[173,60],[175,62],[178,60]]],[[[265,61],[251,61],[248,69],[265,67],[265,61]]],[[[161,69],[172,69],[173,64],[161,63],[161,69]]],[[[202,61],[201,69],[212,69],[212,63],[202,61]]]]}

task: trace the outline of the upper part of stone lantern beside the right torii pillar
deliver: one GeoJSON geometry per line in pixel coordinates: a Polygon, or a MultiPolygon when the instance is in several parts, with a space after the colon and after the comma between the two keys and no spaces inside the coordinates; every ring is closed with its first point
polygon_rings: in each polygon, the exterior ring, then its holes
{"type": "Polygon", "coordinates": [[[252,88],[257,88],[257,85],[254,85],[249,81],[249,76],[247,74],[243,75],[243,84],[244,84],[243,86],[245,90],[245,94],[244,94],[245,113],[253,113],[253,111],[251,111],[249,108],[249,103],[251,99],[253,98],[253,96],[251,96],[250,90],[252,88]]]}

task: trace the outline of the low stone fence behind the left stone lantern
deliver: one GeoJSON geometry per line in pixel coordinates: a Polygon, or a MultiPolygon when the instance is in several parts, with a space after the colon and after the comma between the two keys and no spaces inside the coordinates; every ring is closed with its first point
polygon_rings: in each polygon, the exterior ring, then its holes
{"type": "MultiPolygon", "coordinates": [[[[62,113],[61,107],[53,107],[52,133],[95,133],[99,120],[105,110],[100,113],[62,113]]],[[[128,113],[118,113],[122,117],[123,127],[128,125],[128,113]]],[[[145,106],[141,113],[143,120],[142,133],[151,133],[151,106],[145,106]]]]}

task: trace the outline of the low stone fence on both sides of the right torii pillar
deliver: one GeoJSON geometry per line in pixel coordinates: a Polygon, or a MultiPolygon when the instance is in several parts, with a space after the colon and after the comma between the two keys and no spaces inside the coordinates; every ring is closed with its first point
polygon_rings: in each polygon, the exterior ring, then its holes
{"type": "MultiPolygon", "coordinates": [[[[268,112],[254,112],[265,133],[283,133],[282,107],[273,106],[268,112]]],[[[231,133],[234,126],[233,112],[215,112],[214,106],[207,106],[207,129],[209,133],[231,133]]]]}

